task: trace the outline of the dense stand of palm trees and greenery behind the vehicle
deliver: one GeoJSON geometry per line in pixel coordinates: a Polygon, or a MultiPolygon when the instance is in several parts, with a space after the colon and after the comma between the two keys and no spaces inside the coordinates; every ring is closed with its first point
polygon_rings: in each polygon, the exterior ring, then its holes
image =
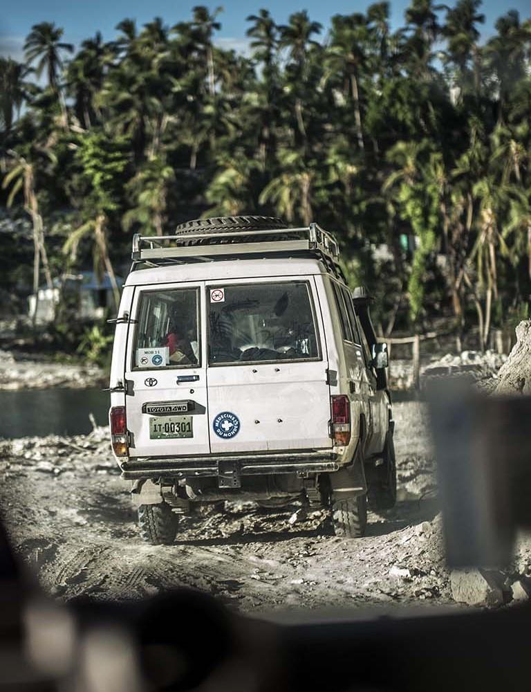
{"type": "Polygon", "coordinates": [[[250,56],[216,42],[221,8],[124,19],[77,51],[37,24],[26,62],[0,59],[1,203],[31,200],[55,277],[91,260],[113,277],[132,233],[192,217],[315,220],[382,325],[472,314],[486,338],[531,293],[530,20],[507,12],[481,45],[481,0],[411,0],[395,32],[389,16],[377,2],[324,36],[261,9],[250,56]]]}

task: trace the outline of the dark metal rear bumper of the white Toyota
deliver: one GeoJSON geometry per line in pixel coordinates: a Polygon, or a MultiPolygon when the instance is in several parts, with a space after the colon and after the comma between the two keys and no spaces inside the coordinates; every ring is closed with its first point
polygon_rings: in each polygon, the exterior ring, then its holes
{"type": "Polygon", "coordinates": [[[227,464],[237,468],[239,475],[276,473],[325,473],[339,469],[338,455],[333,451],[285,452],[252,455],[220,455],[218,457],[162,457],[129,459],[120,464],[122,478],[185,478],[223,475],[227,464]],[[220,466],[222,468],[220,468],[220,466]]]}

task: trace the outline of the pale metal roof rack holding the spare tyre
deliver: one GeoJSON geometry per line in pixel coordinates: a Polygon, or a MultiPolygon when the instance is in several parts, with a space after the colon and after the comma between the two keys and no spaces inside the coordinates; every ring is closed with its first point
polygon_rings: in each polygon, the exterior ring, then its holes
{"type": "Polygon", "coordinates": [[[289,251],[315,251],[337,264],[337,241],[317,224],[304,228],[272,230],[227,230],[216,233],[176,233],[176,235],[133,235],[133,253],[137,262],[173,258],[181,262],[201,257],[254,255],[289,251]],[[241,239],[242,242],[238,242],[241,239]]]}

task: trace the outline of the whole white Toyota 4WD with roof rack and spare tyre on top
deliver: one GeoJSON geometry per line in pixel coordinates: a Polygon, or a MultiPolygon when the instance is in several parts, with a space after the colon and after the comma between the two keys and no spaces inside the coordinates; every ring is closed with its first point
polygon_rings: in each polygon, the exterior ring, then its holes
{"type": "Polygon", "coordinates": [[[111,366],[113,452],[142,536],[192,503],[330,507],[355,538],[395,503],[391,400],[363,290],[335,239],[279,219],[189,221],[133,239],[111,366]]]}

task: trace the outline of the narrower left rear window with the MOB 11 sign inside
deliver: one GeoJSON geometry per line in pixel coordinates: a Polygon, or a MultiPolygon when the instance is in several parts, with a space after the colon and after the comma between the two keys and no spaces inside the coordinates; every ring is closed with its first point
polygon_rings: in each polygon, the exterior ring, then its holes
{"type": "Polygon", "coordinates": [[[198,289],[144,291],[133,367],[193,367],[200,361],[198,289]]]}

